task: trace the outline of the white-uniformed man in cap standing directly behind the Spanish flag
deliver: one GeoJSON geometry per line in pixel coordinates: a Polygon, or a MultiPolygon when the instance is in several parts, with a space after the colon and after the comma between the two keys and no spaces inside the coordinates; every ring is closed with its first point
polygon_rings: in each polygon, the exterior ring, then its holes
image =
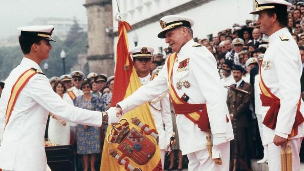
{"type": "MultiPolygon", "coordinates": [[[[156,75],[150,75],[151,57],[154,49],[148,46],[138,46],[130,51],[134,68],[142,85],[148,84],[156,75]]],[[[159,136],[159,148],[161,150],[161,164],[164,169],[165,153],[170,146],[170,138],[173,133],[171,109],[168,92],[160,94],[157,98],[148,102],[150,111],[159,136]]]]}

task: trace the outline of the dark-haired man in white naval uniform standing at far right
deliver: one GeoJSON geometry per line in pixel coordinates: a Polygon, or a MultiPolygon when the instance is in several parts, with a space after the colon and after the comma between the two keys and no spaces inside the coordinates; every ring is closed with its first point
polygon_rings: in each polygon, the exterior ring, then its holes
{"type": "Polygon", "coordinates": [[[259,15],[257,24],[269,39],[260,65],[263,143],[268,145],[268,167],[270,171],[281,170],[285,163],[280,160],[283,149],[292,151],[289,169],[300,170],[299,151],[304,137],[304,103],[300,98],[302,61],[299,48],[286,28],[287,8],[291,4],[284,0],[255,3],[256,10],[250,14],[259,15]]]}

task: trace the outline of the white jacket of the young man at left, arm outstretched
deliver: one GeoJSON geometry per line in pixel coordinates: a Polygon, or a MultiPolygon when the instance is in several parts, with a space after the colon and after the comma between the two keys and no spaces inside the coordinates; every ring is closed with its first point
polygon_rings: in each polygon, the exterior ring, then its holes
{"type": "MultiPolygon", "coordinates": [[[[36,62],[23,58],[5,81],[0,99],[0,123],[5,121],[6,106],[12,86],[29,68],[41,70],[36,62]]],[[[36,74],[20,92],[5,128],[0,146],[0,168],[14,171],[45,171],[44,132],[49,112],[79,124],[100,127],[102,114],[65,102],[43,74],[36,74]]],[[[1,125],[3,127],[3,125],[1,125]]]]}

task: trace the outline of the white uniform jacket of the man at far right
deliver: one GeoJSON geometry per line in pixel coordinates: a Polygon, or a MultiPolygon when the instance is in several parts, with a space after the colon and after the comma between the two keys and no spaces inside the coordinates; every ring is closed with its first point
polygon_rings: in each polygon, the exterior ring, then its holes
{"type": "MultiPolygon", "coordinates": [[[[288,32],[282,28],[268,37],[269,47],[261,63],[261,75],[265,85],[280,99],[281,106],[275,130],[263,127],[263,140],[267,145],[273,141],[274,135],[287,138],[291,133],[295,121],[297,104],[300,99],[302,62],[299,47],[288,32]]],[[[304,103],[301,99],[300,111],[304,114],[304,103]]],[[[265,117],[268,106],[262,106],[261,111],[265,117]]],[[[298,126],[298,135],[304,136],[303,123],[298,126]]]]}

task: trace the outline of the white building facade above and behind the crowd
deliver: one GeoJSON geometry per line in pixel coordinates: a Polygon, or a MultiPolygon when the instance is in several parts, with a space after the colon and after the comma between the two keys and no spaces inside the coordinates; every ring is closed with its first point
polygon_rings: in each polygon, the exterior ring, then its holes
{"type": "MultiPolygon", "coordinates": [[[[154,47],[154,53],[164,53],[168,47],[164,39],[157,38],[161,31],[159,19],[166,15],[189,16],[194,20],[194,38],[202,39],[219,31],[232,29],[233,23],[245,24],[246,19],[255,19],[250,15],[255,5],[252,0],[118,0],[120,13],[131,26],[128,32],[129,49],[138,45],[154,47]]],[[[117,14],[116,1],[112,1],[113,17],[117,14]]],[[[113,21],[114,51],[117,44],[118,22],[113,21]]],[[[115,53],[114,53],[115,54],[115,53]]]]}

